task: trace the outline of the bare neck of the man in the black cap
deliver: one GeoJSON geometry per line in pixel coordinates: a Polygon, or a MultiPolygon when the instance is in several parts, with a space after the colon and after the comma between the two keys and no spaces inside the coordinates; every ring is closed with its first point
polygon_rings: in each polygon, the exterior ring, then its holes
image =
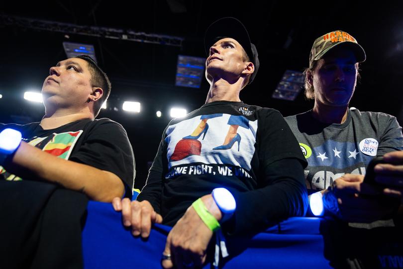
{"type": "Polygon", "coordinates": [[[205,103],[211,103],[215,101],[232,101],[240,102],[239,92],[242,89],[243,80],[239,79],[234,83],[220,78],[210,84],[210,90],[208,91],[205,103]]]}

